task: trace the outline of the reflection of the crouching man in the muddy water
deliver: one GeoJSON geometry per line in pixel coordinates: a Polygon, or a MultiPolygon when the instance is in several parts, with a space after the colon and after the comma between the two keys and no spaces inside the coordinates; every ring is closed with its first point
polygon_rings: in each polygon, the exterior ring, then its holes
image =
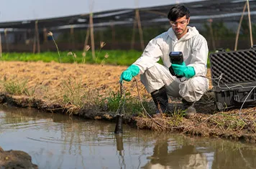
{"type": "Polygon", "coordinates": [[[190,143],[180,145],[177,140],[165,137],[157,140],[150,162],[143,168],[211,168],[213,158],[211,150],[201,150],[190,143]]]}

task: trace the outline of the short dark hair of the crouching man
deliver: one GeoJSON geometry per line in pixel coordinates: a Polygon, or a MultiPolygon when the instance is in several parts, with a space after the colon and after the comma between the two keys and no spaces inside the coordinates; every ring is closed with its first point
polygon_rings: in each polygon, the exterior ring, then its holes
{"type": "Polygon", "coordinates": [[[178,18],[183,16],[186,16],[186,19],[190,17],[190,11],[183,5],[171,7],[168,13],[168,19],[170,21],[176,21],[178,18]]]}

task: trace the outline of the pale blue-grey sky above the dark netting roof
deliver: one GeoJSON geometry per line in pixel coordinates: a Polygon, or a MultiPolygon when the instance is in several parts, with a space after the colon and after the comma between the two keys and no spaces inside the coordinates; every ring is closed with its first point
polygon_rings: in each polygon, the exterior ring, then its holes
{"type": "Polygon", "coordinates": [[[1,0],[0,22],[48,19],[88,14],[90,11],[182,4],[191,1],[201,0],[1,0]]]}

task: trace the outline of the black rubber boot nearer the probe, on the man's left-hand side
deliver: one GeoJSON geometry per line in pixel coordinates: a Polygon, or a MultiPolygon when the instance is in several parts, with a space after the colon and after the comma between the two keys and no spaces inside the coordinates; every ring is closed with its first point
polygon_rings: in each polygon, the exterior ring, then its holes
{"type": "Polygon", "coordinates": [[[168,112],[168,96],[165,87],[160,88],[160,90],[151,92],[151,96],[155,102],[155,106],[157,107],[157,113],[168,112]]]}

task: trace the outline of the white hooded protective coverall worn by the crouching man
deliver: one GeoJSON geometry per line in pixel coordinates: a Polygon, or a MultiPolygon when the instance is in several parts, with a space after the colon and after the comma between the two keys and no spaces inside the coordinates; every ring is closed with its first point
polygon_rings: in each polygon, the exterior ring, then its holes
{"type": "Polygon", "coordinates": [[[168,96],[183,97],[188,102],[195,102],[200,100],[209,87],[209,80],[205,78],[208,52],[206,39],[196,27],[188,26],[188,32],[180,39],[170,28],[168,32],[152,39],[142,56],[133,64],[140,67],[140,79],[147,92],[154,92],[165,85],[168,96]],[[183,52],[184,62],[194,68],[196,75],[180,82],[170,74],[170,52],[183,52]],[[160,57],[164,65],[157,63],[160,57]]]}

